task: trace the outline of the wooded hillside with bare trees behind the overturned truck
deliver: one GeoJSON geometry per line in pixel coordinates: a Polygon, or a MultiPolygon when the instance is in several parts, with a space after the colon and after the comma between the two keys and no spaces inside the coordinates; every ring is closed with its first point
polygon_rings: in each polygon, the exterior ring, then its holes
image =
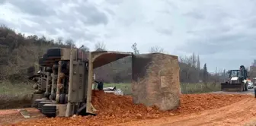
{"type": "MultiPolygon", "coordinates": [[[[54,40],[46,39],[45,36],[24,36],[22,33],[15,33],[14,30],[1,26],[0,67],[2,71],[0,71],[0,80],[26,81],[27,68],[37,63],[38,58],[46,52],[46,49],[69,47],[70,44],[73,44],[71,39],[63,41],[61,38],[54,40]]],[[[88,48],[85,47],[85,49],[88,48]]],[[[183,58],[180,61],[180,69],[182,83],[219,80],[218,77],[210,75],[206,69],[200,69],[199,55],[197,58],[195,55],[183,58]]],[[[106,83],[130,83],[132,75],[131,57],[97,68],[95,73],[97,78],[103,79],[106,83]]]]}

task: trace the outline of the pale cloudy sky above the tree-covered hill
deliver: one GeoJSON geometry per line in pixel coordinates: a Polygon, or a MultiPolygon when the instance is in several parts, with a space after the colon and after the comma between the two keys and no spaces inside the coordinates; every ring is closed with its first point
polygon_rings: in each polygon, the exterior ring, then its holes
{"type": "Polygon", "coordinates": [[[0,24],[25,35],[73,39],[77,46],[200,55],[208,71],[256,59],[253,0],[0,0],[0,24]]]}

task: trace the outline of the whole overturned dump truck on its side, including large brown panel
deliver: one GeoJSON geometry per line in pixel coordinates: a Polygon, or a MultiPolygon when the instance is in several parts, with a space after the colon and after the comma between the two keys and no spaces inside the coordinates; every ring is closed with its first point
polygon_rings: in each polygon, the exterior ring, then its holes
{"type": "MultiPolygon", "coordinates": [[[[180,105],[177,56],[52,48],[40,58],[40,71],[30,76],[31,80],[37,82],[32,106],[47,117],[96,115],[91,104],[94,68],[126,56],[133,57],[133,102],[158,106],[163,110],[180,105]]],[[[30,73],[36,70],[35,67],[29,69],[30,73]]]]}

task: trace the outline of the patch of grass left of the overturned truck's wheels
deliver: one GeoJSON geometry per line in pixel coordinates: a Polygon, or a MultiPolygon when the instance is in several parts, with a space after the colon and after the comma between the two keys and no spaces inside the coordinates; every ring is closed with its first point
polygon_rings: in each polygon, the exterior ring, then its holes
{"type": "Polygon", "coordinates": [[[0,82],[0,109],[30,106],[32,92],[32,85],[29,83],[0,82]]]}

